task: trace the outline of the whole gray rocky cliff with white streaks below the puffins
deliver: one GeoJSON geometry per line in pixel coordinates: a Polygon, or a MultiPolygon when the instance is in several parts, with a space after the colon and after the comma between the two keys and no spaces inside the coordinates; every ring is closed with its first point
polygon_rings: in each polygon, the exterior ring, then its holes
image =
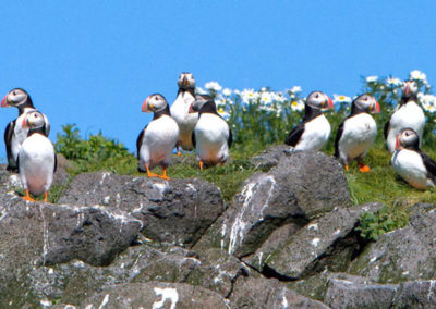
{"type": "MultiPolygon", "coordinates": [[[[81,174],[26,202],[0,172],[1,308],[432,308],[436,212],[367,242],[342,168],[272,147],[230,203],[198,178],[81,174]]],[[[58,182],[64,182],[60,173],[58,182]]]]}

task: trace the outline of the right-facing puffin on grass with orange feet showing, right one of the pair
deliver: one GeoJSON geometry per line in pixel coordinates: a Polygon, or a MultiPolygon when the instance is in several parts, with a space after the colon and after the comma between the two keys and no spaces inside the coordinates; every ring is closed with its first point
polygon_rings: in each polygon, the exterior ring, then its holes
{"type": "Polygon", "coordinates": [[[371,145],[377,136],[377,124],[370,113],[379,113],[377,100],[364,94],[351,103],[351,113],[339,125],[335,139],[335,157],[349,169],[351,160],[355,159],[362,173],[370,172],[370,166],[363,163],[371,145]]]}

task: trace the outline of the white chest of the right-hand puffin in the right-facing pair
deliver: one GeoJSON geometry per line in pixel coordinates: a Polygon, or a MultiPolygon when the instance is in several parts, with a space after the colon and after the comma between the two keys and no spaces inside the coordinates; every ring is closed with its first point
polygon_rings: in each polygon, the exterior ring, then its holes
{"type": "Polygon", "coordinates": [[[367,113],[360,113],[346,120],[339,140],[339,152],[349,160],[365,154],[377,136],[377,124],[367,113]]]}

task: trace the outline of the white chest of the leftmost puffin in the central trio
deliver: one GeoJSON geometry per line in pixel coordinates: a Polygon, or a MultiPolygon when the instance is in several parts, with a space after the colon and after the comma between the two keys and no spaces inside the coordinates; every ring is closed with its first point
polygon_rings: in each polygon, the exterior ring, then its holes
{"type": "Polygon", "coordinates": [[[171,157],[179,136],[179,126],[169,115],[152,121],[145,129],[140,149],[141,159],[149,165],[161,163],[171,157]]]}

